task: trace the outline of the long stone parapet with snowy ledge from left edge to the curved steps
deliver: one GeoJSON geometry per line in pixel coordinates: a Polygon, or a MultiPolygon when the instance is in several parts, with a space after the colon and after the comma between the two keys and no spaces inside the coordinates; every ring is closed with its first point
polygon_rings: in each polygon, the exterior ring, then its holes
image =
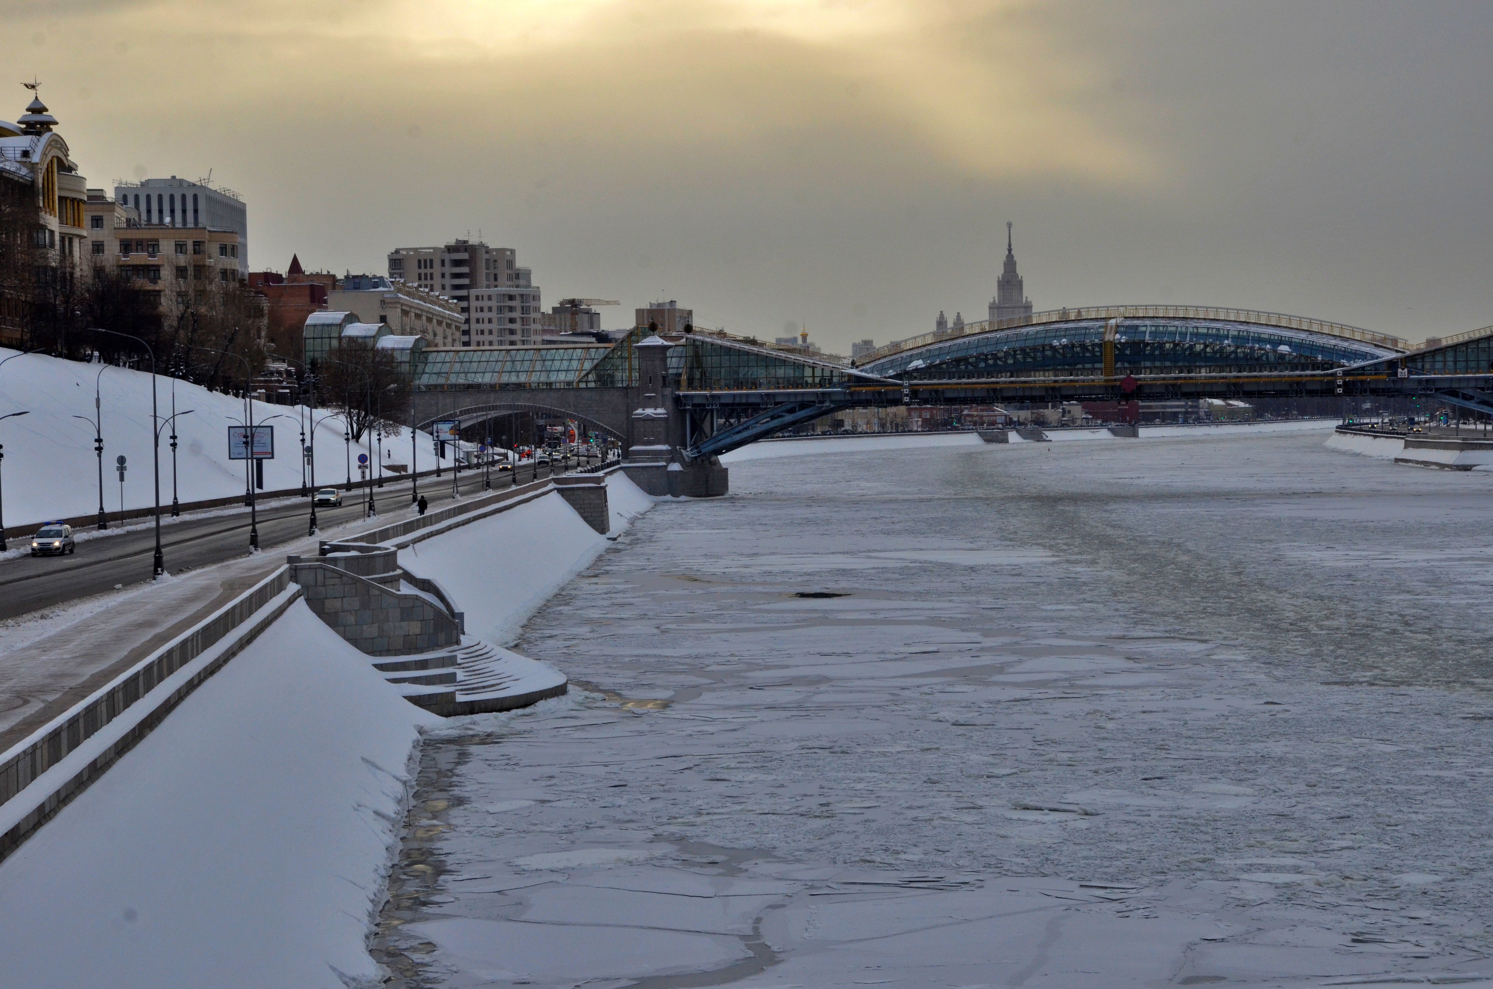
{"type": "Polygon", "coordinates": [[[0,753],[0,859],[49,820],[300,596],[281,568],[0,753]]]}

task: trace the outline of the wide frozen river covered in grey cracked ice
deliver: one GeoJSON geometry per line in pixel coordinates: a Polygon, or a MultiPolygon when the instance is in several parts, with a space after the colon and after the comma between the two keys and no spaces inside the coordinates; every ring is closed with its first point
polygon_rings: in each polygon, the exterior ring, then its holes
{"type": "Polygon", "coordinates": [[[1493,974],[1493,474],[1324,435],[764,457],[660,503],[524,630],[570,696],[427,741],[375,955],[408,986],[1493,974]]]}

